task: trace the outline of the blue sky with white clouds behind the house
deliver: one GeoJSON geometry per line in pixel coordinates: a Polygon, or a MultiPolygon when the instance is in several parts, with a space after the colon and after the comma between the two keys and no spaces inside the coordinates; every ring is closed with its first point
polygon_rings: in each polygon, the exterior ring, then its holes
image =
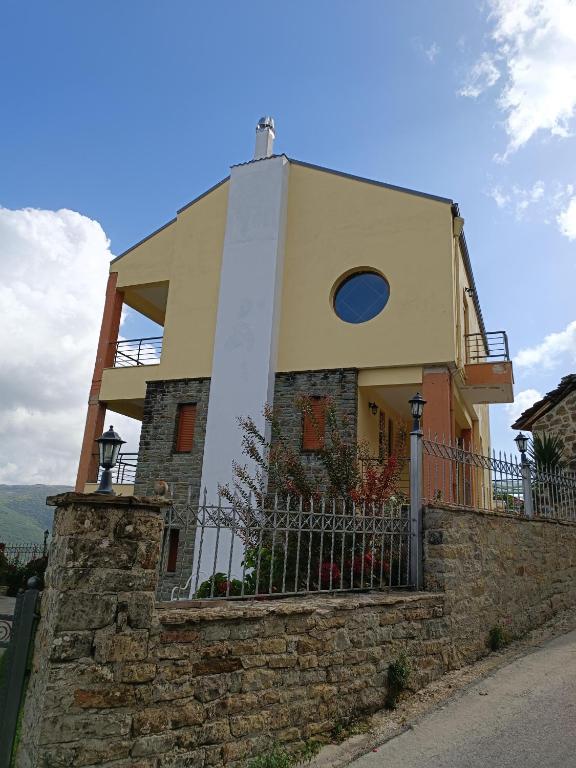
{"type": "Polygon", "coordinates": [[[459,203],[514,359],[497,449],[574,372],[576,0],[4,0],[0,65],[0,482],[73,482],[108,262],[264,114],[276,152],[459,203]]]}

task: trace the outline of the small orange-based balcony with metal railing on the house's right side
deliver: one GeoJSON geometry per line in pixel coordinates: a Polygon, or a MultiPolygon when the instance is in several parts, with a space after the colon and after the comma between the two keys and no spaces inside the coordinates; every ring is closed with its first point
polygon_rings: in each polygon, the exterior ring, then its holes
{"type": "Polygon", "coordinates": [[[514,376],[505,331],[464,337],[466,363],[462,391],[469,403],[514,402],[514,376]]]}

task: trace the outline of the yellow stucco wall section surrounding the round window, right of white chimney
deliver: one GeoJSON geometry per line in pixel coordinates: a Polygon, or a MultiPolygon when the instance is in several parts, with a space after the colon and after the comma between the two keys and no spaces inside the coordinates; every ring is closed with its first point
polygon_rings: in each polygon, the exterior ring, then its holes
{"type": "Polygon", "coordinates": [[[405,366],[455,359],[450,205],[293,164],[278,369],[405,366]],[[380,271],[390,299],[340,320],[337,281],[380,271]]]}

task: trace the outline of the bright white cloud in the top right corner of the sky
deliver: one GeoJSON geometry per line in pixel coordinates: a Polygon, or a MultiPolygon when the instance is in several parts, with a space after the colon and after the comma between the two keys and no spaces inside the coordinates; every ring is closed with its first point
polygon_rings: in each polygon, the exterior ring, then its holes
{"type": "Polygon", "coordinates": [[[489,0],[494,50],[472,68],[464,96],[476,98],[506,77],[499,106],[515,152],[538,131],[566,137],[576,111],[576,3],[573,0],[489,0]],[[496,64],[498,63],[498,66],[496,64]]]}

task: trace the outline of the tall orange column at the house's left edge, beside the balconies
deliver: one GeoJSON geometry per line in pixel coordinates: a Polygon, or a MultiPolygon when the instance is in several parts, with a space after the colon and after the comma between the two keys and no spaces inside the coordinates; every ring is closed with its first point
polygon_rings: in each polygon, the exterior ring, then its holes
{"type": "Polygon", "coordinates": [[[88,413],[84,427],[84,439],[80,452],[76,491],[84,492],[86,483],[95,483],[98,478],[98,446],[95,442],[104,431],[106,404],[100,402],[102,372],[114,364],[114,344],[118,340],[120,316],[122,314],[123,294],[116,289],[118,273],[111,272],[106,286],[106,300],[100,326],[100,338],[96,351],[94,374],[88,398],[88,413]]]}

